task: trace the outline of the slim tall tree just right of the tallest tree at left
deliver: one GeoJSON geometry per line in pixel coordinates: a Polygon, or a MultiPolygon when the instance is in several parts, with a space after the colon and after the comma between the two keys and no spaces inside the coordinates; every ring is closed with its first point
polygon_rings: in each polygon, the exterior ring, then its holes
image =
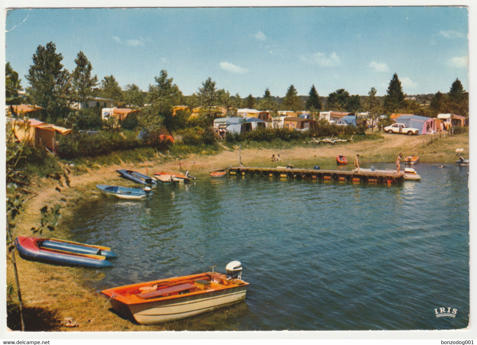
{"type": "Polygon", "coordinates": [[[73,99],[84,105],[92,97],[93,87],[98,84],[98,77],[96,75],[91,76],[93,66],[83,51],[78,53],[74,62],[76,68],[72,73],[73,99]]]}

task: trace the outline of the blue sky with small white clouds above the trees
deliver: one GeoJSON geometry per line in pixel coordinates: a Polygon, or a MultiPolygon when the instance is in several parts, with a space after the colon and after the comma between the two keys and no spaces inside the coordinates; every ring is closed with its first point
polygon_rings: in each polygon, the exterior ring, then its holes
{"type": "Polygon", "coordinates": [[[39,45],[63,65],[83,51],[102,80],[143,91],[166,70],[180,90],[208,77],[231,95],[386,93],[394,73],[409,95],[468,90],[468,10],[458,7],[19,9],[6,16],[5,54],[22,86],[39,45]]]}

